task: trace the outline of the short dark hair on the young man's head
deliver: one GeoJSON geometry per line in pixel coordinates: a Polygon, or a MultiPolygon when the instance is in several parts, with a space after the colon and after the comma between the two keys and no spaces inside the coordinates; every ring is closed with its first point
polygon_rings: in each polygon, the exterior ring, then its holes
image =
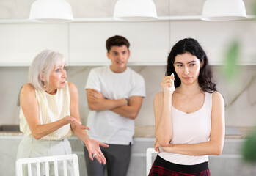
{"type": "Polygon", "coordinates": [[[130,43],[125,37],[122,37],[120,35],[109,37],[108,40],[106,40],[106,50],[108,52],[111,50],[112,46],[122,46],[122,45],[125,45],[129,49],[130,43]]]}

